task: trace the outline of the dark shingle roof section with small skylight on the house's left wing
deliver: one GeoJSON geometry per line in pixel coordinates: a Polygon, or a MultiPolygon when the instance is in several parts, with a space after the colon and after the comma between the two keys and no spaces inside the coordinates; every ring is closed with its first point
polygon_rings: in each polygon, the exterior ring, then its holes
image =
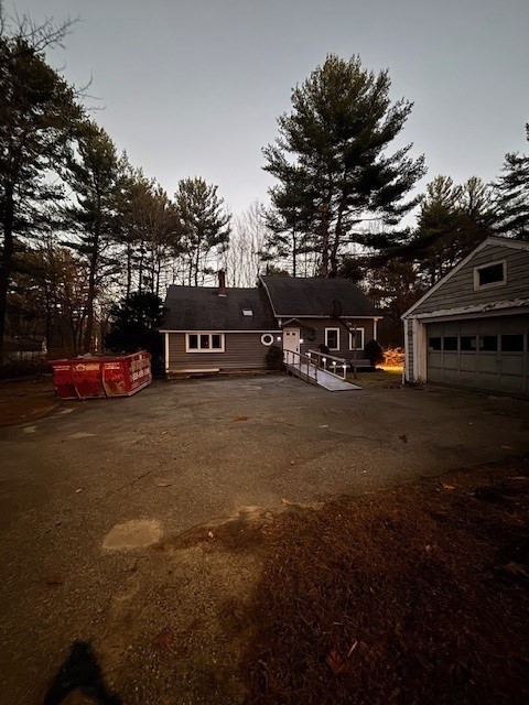
{"type": "Polygon", "coordinates": [[[176,286],[171,284],[164,306],[168,310],[162,330],[274,330],[268,296],[262,289],[216,286],[176,286]],[[242,311],[250,310],[252,316],[242,311]]]}

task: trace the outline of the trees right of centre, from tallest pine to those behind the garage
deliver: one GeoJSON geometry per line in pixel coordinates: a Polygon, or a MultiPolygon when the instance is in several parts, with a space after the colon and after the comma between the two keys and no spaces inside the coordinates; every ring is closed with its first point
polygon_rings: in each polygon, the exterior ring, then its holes
{"type": "Polygon", "coordinates": [[[385,313],[381,341],[396,345],[401,314],[478,242],[529,238],[529,156],[507,154],[494,183],[440,175],[413,195],[424,158],[412,144],[392,147],[412,104],[392,102],[390,85],[387,70],[368,72],[358,56],[327,56],[294,88],[263,154],[277,180],[268,261],[294,276],[359,283],[385,313]]]}

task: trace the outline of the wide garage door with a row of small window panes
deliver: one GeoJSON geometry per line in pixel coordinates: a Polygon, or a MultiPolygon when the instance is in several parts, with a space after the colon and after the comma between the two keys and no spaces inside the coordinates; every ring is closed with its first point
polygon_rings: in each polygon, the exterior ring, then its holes
{"type": "Polygon", "coordinates": [[[431,323],[428,381],[529,394],[529,316],[431,323]]]}

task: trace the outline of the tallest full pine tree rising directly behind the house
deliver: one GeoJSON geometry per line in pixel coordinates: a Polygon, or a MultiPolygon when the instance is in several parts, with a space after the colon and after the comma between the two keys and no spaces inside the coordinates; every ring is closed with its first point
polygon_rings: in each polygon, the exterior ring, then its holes
{"type": "Polygon", "coordinates": [[[295,204],[323,276],[337,274],[347,245],[366,241],[357,226],[367,216],[396,226],[417,204],[406,197],[424,174],[423,158],[409,155],[411,144],[387,154],[412,104],[391,105],[389,88],[387,70],[375,76],[358,56],[331,54],[294,88],[292,112],[278,119],[279,138],[263,150],[264,170],[280,182],[280,203],[273,189],[272,203],[283,219],[295,204]]]}

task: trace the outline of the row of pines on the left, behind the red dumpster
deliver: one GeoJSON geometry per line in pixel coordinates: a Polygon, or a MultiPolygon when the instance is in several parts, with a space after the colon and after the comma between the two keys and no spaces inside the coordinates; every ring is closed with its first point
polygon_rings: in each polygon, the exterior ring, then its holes
{"type": "Polygon", "coordinates": [[[217,186],[184,178],[169,196],[118,153],[46,63],[69,29],[0,15],[0,358],[6,339],[101,347],[121,296],[202,284],[231,231],[217,186]]]}

